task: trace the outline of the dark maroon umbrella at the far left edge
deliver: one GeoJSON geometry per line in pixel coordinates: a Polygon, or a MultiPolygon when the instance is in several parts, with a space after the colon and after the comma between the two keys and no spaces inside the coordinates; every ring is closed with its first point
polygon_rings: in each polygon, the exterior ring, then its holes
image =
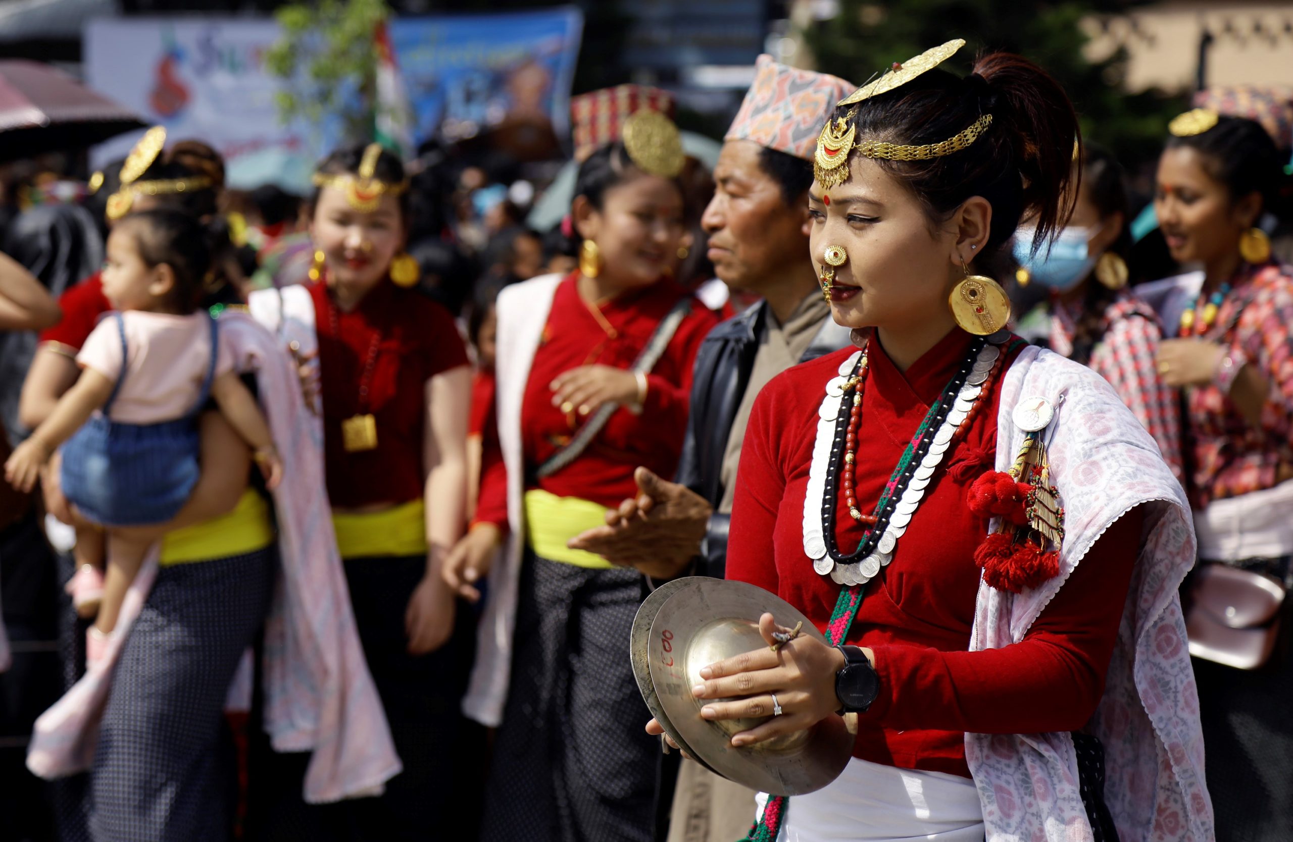
{"type": "Polygon", "coordinates": [[[48,65],[0,61],[0,160],[83,149],[145,125],[48,65]]]}

